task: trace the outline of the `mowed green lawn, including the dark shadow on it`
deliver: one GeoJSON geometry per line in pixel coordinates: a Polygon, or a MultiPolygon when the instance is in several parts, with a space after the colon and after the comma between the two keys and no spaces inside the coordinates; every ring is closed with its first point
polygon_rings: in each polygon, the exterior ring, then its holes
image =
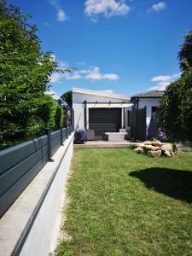
{"type": "Polygon", "coordinates": [[[58,255],[192,255],[192,154],[78,148],[58,255]]]}

